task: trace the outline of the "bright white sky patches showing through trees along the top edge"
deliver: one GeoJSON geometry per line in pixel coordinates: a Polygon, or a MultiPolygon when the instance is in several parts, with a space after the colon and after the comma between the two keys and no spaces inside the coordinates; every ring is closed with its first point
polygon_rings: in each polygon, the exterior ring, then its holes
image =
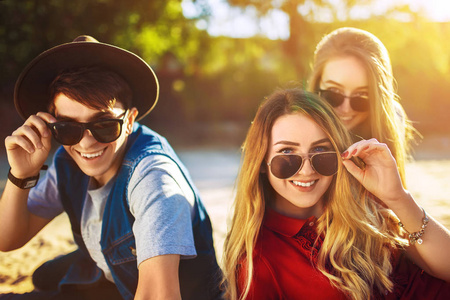
{"type": "MultiPolygon", "coordinates": [[[[197,22],[199,29],[207,30],[212,36],[230,36],[235,38],[248,38],[255,35],[263,35],[270,39],[286,40],[289,37],[289,16],[281,9],[282,1],[273,1],[273,9],[266,16],[260,17],[255,7],[230,7],[226,0],[206,0],[211,7],[211,20],[197,22]]],[[[330,0],[330,8],[315,6],[314,1],[303,1],[298,11],[302,15],[308,15],[314,11],[312,20],[317,22],[332,23],[335,20],[347,19],[364,20],[383,16],[390,9],[395,10],[401,5],[408,5],[411,12],[420,14],[436,22],[450,21],[450,2],[447,0],[379,0],[369,4],[356,4],[347,9],[340,0],[330,0]]],[[[367,2],[367,1],[360,1],[367,2]]],[[[182,1],[183,13],[186,17],[198,16],[201,11],[191,0],[182,1]]],[[[392,17],[402,21],[412,21],[408,13],[395,10],[392,17]]]]}

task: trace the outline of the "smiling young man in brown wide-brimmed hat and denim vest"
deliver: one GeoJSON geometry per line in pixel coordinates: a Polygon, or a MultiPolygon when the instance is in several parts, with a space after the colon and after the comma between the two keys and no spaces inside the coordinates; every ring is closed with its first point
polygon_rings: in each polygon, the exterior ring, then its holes
{"type": "Polygon", "coordinates": [[[20,75],[25,122],[5,139],[0,250],[22,247],[62,212],[79,248],[38,268],[37,290],[19,299],[220,298],[198,191],[167,141],[136,122],[158,90],[141,58],[90,36],[43,52],[20,75]],[[39,179],[52,136],[62,146],[39,179]]]}

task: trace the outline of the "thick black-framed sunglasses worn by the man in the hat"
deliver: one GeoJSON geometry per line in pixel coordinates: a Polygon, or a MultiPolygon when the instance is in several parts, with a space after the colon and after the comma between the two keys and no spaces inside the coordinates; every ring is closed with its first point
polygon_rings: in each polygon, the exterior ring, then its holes
{"type": "Polygon", "coordinates": [[[102,119],[88,123],[61,121],[48,123],[47,126],[55,140],[66,146],[78,144],[86,130],[89,130],[98,142],[111,143],[122,133],[123,120],[127,112],[128,110],[124,112],[122,119],[102,119]]]}

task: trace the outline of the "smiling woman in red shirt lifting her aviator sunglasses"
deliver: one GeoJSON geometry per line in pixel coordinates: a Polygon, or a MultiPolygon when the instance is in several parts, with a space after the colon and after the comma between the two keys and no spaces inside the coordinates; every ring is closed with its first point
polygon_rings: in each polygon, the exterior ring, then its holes
{"type": "Polygon", "coordinates": [[[444,299],[449,284],[428,274],[450,280],[448,249],[385,144],[352,145],[313,93],[279,90],[259,107],[225,242],[228,299],[444,299]]]}

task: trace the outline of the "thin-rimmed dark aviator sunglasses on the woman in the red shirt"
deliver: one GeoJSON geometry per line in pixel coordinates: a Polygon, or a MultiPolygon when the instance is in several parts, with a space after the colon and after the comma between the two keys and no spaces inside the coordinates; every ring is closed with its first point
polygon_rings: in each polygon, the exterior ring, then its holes
{"type": "Polygon", "coordinates": [[[312,168],[323,176],[331,176],[337,172],[338,158],[336,152],[320,152],[304,157],[298,154],[281,154],[274,156],[270,163],[272,174],[279,179],[287,179],[297,174],[309,159],[312,168]]]}

